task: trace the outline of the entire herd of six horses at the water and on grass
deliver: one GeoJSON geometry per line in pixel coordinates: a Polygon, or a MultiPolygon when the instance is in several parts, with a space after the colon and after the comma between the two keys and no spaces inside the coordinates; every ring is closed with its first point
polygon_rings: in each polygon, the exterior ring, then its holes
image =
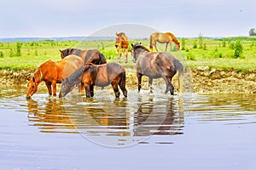
{"type": "MultiPolygon", "coordinates": [[[[137,68],[137,88],[141,90],[142,77],[148,77],[148,87],[152,93],[153,79],[162,77],[166,82],[165,94],[174,94],[172,77],[178,73],[178,89],[182,92],[183,65],[172,54],[158,52],[156,42],[168,44],[174,42],[179,49],[179,42],[172,33],[155,32],[150,35],[149,49],[141,43],[131,43],[131,55],[137,68]],[[153,52],[153,46],[157,52],[153,52]]],[[[129,40],[124,32],[116,33],[115,47],[117,50],[116,60],[120,63],[122,53],[125,53],[125,62],[128,61],[129,40]]],[[[172,48],[172,45],[171,45],[172,48]]],[[[97,49],[82,50],[79,48],[67,48],[60,50],[61,59],[53,61],[51,59],[39,65],[33,73],[32,78],[27,78],[26,99],[31,99],[38,90],[40,82],[44,82],[49,95],[56,96],[56,84],[61,83],[59,97],[66,96],[75,86],[79,87],[79,92],[85,90],[86,98],[94,96],[94,87],[106,87],[112,85],[116,98],[119,98],[119,88],[125,98],[127,89],[125,88],[125,68],[118,63],[107,63],[105,56],[97,49]]]]}

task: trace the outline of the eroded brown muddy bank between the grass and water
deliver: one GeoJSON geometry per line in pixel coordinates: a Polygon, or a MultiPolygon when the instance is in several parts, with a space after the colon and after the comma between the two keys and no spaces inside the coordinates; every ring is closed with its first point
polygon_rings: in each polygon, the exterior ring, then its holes
{"type": "MultiPolygon", "coordinates": [[[[256,94],[256,71],[236,71],[234,69],[210,68],[208,66],[190,67],[193,92],[199,94],[256,94]]],[[[0,86],[26,86],[26,78],[32,77],[35,69],[0,70],[0,86]]],[[[136,71],[126,69],[127,88],[137,88],[136,71]]],[[[176,77],[172,80],[176,87],[176,77]]],[[[154,84],[162,83],[160,79],[154,84]]],[[[148,79],[143,78],[143,86],[147,88],[148,79]]]]}

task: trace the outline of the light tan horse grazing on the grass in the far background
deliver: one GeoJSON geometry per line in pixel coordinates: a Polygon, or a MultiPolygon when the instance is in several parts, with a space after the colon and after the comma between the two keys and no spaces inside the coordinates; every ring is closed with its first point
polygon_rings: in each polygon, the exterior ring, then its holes
{"type": "Polygon", "coordinates": [[[166,50],[167,46],[170,43],[170,48],[172,50],[172,42],[176,44],[176,48],[180,48],[180,44],[177,41],[177,38],[171,33],[171,32],[166,32],[166,33],[161,33],[161,32],[154,32],[153,34],[150,35],[150,40],[149,40],[149,49],[150,51],[153,51],[153,46],[158,51],[156,48],[156,42],[160,43],[166,43],[166,50]]]}

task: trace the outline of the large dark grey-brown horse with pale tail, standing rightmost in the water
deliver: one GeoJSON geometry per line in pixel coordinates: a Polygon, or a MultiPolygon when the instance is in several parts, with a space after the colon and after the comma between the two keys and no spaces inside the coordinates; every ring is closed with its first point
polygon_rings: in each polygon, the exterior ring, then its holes
{"type": "Polygon", "coordinates": [[[136,63],[137,67],[138,91],[141,90],[143,76],[148,77],[148,86],[151,93],[153,79],[162,77],[166,82],[165,94],[170,91],[173,95],[172,77],[178,71],[178,88],[179,92],[182,92],[183,65],[178,59],[170,53],[150,53],[148,48],[141,44],[131,44],[131,47],[133,62],[136,63]]]}

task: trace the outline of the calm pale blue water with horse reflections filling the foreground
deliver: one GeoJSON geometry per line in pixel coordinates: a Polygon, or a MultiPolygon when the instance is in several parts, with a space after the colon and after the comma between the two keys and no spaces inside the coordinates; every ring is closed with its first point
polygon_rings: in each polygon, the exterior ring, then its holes
{"type": "Polygon", "coordinates": [[[232,169],[256,166],[256,96],[106,89],[64,99],[0,94],[1,169],[232,169]]]}

